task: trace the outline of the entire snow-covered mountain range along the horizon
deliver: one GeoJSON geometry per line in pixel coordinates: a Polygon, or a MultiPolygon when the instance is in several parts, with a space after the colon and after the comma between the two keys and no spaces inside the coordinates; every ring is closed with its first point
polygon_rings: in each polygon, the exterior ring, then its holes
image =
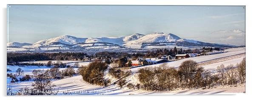
{"type": "MultiPolygon", "coordinates": [[[[74,50],[74,49],[152,49],[152,48],[173,48],[178,47],[229,47],[231,45],[205,43],[201,41],[180,38],[171,33],[155,32],[148,35],[139,33],[124,37],[100,37],[100,38],[77,38],[70,35],[63,35],[56,38],[30,43],[7,43],[9,51],[13,48],[22,50],[74,50]],[[12,48],[10,48],[12,47],[12,48]]],[[[13,50],[12,50],[13,49],[13,50]]]]}

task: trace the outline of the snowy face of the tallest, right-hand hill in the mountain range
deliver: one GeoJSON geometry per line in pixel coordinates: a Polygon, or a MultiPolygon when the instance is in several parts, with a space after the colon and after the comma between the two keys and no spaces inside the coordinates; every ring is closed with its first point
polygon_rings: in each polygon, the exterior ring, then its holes
{"type": "Polygon", "coordinates": [[[180,38],[171,33],[155,32],[148,34],[134,41],[129,41],[124,46],[133,47],[134,45],[142,45],[142,43],[159,43],[159,42],[176,42],[180,38]]]}

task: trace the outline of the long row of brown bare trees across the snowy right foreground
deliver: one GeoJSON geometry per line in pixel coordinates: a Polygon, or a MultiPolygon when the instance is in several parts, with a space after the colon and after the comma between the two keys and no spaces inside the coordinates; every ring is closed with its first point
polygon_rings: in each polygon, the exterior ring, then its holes
{"type": "Polygon", "coordinates": [[[236,85],[245,83],[245,58],[234,65],[220,65],[216,73],[204,70],[195,61],[182,62],[179,68],[169,67],[166,63],[155,68],[139,70],[139,88],[145,90],[166,91],[177,88],[210,88],[219,85],[236,85]]]}

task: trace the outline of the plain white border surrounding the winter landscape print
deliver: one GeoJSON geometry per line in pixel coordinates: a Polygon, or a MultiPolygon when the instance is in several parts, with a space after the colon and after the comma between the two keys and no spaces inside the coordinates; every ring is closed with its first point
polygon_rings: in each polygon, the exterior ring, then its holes
{"type": "Polygon", "coordinates": [[[1,100],[79,100],[79,99],[117,99],[117,100],[180,100],[180,99],[206,99],[206,100],[245,100],[249,98],[254,98],[255,93],[255,71],[256,66],[253,65],[256,57],[256,31],[255,31],[255,3],[253,0],[91,0],[91,1],[82,1],[82,0],[0,0],[1,6],[1,100]],[[6,43],[7,43],[7,4],[63,4],[63,5],[246,5],[246,56],[247,56],[247,81],[246,81],[246,93],[237,94],[237,95],[137,95],[137,96],[127,96],[127,95],[114,95],[114,96],[23,96],[23,97],[7,97],[6,96],[6,43]],[[254,79],[254,80],[253,80],[254,79]]]}

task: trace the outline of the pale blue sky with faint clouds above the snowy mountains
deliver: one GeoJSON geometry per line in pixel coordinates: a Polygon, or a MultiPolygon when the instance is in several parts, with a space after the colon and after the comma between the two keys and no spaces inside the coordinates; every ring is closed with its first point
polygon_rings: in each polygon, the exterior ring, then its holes
{"type": "Polygon", "coordinates": [[[244,6],[9,5],[8,12],[9,42],[166,32],[210,43],[245,45],[244,6]]]}

